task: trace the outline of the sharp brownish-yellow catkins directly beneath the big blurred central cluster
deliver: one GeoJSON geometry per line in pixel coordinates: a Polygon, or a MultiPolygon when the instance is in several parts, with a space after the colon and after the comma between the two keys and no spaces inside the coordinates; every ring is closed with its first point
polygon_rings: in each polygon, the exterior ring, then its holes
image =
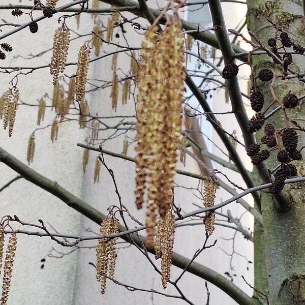
{"type": "Polygon", "coordinates": [[[162,286],[165,289],[170,280],[170,267],[172,264],[172,253],[175,238],[175,218],[171,210],[158,222],[157,237],[155,243],[156,259],[161,261],[162,286]]]}

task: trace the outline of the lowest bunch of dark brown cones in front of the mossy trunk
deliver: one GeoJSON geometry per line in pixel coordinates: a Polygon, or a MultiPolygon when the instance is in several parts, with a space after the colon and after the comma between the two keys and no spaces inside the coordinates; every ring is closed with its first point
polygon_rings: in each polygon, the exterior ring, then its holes
{"type": "Polygon", "coordinates": [[[269,158],[269,150],[260,149],[260,146],[265,144],[269,148],[278,148],[277,159],[281,162],[281,167],[275,173],[275,180],[272,182],[271,192],[273,194],[280,193],[284,188],[286,178],[297,175],[295,165],[291,164],[293,160],[301,160],[302,155],[297,150],[298,136],[293,128],[284,128],[275,131],[271,124],[265,126],[265,134],[261,138],[261,144],[251,144],[247,149],[247,154],[250,156],[252,163],[257,165],[269,158]],[[279,138],[282,139],[284,149],[280,148],[279,138]]]}

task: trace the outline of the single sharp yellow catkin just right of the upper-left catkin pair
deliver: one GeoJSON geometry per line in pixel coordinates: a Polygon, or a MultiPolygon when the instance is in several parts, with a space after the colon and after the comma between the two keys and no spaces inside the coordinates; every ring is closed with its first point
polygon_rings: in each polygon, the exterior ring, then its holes
{"type": "Polygon", "coordinates": [[[87,73],[89,67],[89,50],[81,46],[78,52],[76,78],[75,78],[75,99],[79,103],[85,94],[87,73]]]}

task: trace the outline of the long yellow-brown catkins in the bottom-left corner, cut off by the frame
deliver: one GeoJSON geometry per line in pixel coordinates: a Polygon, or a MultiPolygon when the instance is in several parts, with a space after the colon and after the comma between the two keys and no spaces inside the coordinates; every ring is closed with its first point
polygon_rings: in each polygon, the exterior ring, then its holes
{"type": "MultiPolygon", "coordinates": [[[[2,297],[0,299],[1,305],[6,305],[8,301],[16,245],[17,245],[16,233],[12,233],[9,237],[9,242],[8,242],[6,256],[4,260],[4,266],[3,266],[2,297]]],[[[3,265],[3,255],[4,255],[4,228],[3,225],[0,224],[0,275],[3,265]]]]}

